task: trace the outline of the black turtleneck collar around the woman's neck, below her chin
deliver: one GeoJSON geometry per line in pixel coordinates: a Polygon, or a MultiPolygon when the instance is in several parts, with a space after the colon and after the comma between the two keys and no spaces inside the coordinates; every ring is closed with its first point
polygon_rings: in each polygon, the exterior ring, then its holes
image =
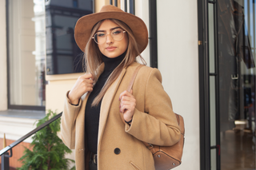
{"type": "Polygon", "coordinates": [[[104,70],[113,71],[122,62],[122,60],[125,57],[126,57],[126,52],[122,53],[120,56],[114,57],[114,58],[106,57],[105,55],[102,54],[102,61],[105,64],[104,70]]]}

